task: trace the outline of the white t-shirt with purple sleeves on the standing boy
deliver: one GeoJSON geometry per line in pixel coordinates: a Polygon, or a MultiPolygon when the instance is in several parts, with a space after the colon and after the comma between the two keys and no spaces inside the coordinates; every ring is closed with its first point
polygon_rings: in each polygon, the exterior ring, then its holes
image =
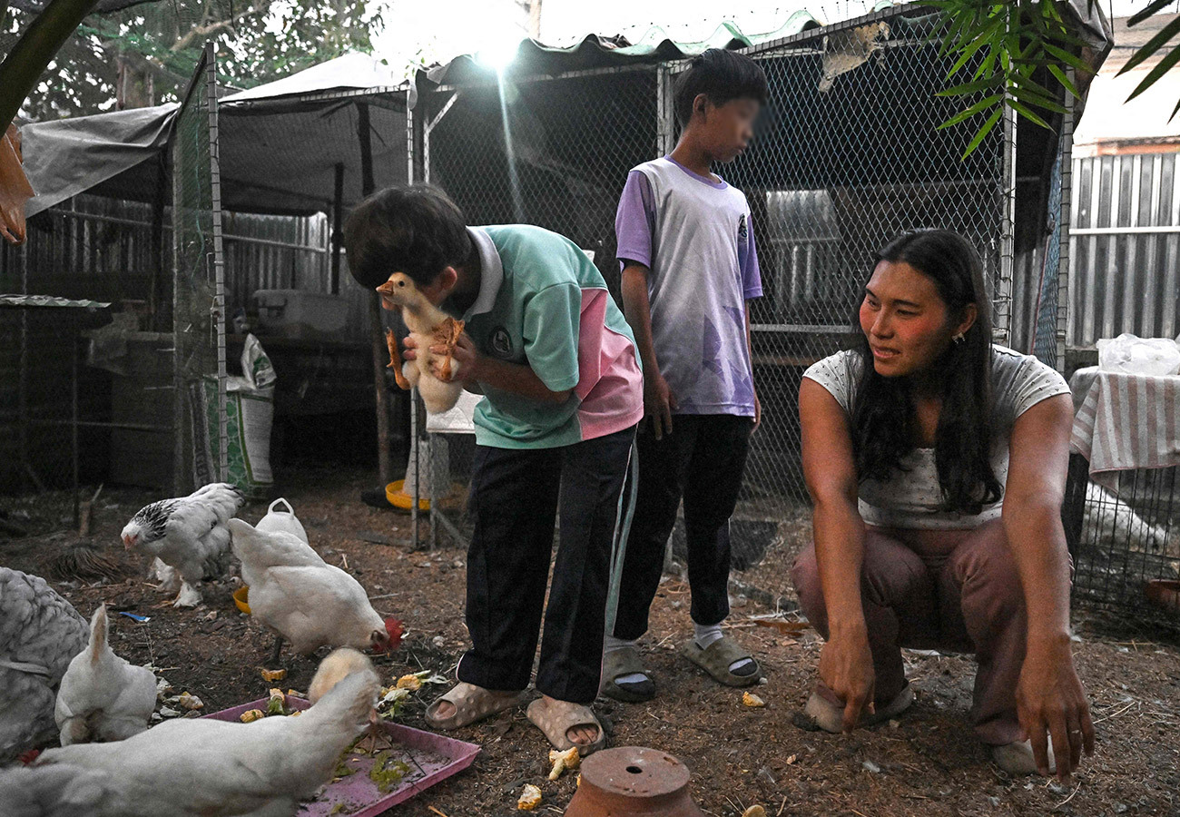
{"type": "Polygon", "coordinates": [[[746,301],[762,280],[745,194],[666,156],[631,170],[615,231],[621,263],[651,270],[651,336],[676,413],[753,417],[746,301]]]}

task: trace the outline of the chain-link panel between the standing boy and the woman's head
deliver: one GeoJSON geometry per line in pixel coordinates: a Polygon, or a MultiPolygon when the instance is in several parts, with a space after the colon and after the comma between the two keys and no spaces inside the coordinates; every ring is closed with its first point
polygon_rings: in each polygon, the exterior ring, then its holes
{"type": "Polygon", "coordinates": [[[907,229],[952,229],[1003,289],[1005,135],[963,161],[974,129],[938,130],[972,100],[936,96],[950,63],[930,25],[877,15],[750,54],[769,100],[749,150],[721,169],[750,203],[765,293],[752,307],[762,427],[740,515],[781,518],[805,497],[801,374],[854,341],[877,250],[907,229]]]}

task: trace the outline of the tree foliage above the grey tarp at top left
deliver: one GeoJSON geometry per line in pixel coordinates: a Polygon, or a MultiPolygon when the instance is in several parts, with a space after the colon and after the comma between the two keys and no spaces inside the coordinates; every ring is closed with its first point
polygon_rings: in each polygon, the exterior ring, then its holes
{"type": "MultiPolygon", "coordinates": [[[[79,26],[41,76],[24,112],[34,119],[113,110],[117,83],[136,102],[175,100],[205,41],[217,44],[218,80],[253,87],[348,51],[371,51],[381,26],[373,0],[157,0],[79,26]]],[[[33,14],[9,9],[0,24],[0,53],[33,14]]]]}

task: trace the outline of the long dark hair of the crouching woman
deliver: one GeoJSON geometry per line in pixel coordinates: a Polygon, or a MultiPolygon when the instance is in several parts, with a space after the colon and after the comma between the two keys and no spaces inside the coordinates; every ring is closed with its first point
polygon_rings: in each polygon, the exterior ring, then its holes
{"type": "MultiPolygon", "coordinates": [[[[983,264],[975,248],[950,230],[913,230],[877,254],[907,263],[935,282],[948,319],[959,321],[969,303],[977,318],[962,342],[952,342],[935,361],[942,384],[942,411],[935,432],[935,462],[946,510],[978,514],[1003,495],[991,470],[991,320],[983,264]]],[[[852,413],[857,473],[861,481],[889,479],[917,439],[913,384],[886,378],[873,367],[868,339],[860,338],[861,374],[852,413]]]]}

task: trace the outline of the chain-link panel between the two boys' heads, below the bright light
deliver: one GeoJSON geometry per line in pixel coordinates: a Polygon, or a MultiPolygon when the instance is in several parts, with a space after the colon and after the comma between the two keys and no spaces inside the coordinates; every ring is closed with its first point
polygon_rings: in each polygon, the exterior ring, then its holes
{"type": "Polygon", "coordinates": [[[615,211],[628,171],[656,156],[656,67],[502,77],[424,97],[425,181],[471,224],[568,236],[617,295],[615,211]]]}

